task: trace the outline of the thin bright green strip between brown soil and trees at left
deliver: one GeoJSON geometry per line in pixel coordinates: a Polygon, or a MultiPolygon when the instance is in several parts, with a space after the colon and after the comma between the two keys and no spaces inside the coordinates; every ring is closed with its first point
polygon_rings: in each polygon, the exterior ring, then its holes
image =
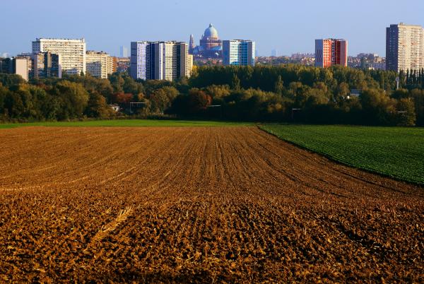
{"type": "Polygon", "coordinates": [[[245,126],[243,122],[204,122],[192,120],[158,120],[158,119],[116,119],[91,120],[82,122],[30,122],[16,124],[0,124],[0,129],[21,126],[245,126]]]}

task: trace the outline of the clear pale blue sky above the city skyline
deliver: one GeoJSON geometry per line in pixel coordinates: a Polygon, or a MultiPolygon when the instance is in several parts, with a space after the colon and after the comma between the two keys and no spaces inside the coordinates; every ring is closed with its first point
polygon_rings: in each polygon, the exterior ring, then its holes
{"type": "Polygon", "coordinates": [[[260,55],[313,52],[314,39],[345,38],[349,55],[385,54],[391,23],[424,25],[423,0],[1,0],[0,54],[30,52],[36,37],[85,37],[119,55],[135,40],[189,41],[213,23],[221,39],[257,42],[260,55]]]}

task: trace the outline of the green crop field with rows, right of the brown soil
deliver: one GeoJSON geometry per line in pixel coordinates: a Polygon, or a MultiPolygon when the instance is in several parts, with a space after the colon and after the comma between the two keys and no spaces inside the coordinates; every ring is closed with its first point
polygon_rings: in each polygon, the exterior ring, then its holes
{"type": "Polygon", "coordinates": [[[424,184],[424,129],[264,124],[279,138],[352,167],[424,184]]]}

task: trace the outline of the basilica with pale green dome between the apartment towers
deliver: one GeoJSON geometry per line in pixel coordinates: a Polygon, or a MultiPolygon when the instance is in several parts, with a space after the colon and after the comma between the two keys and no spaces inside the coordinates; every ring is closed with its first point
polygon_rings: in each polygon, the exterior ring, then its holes
{"type": "Polygon", "coordinates": [[[209,24],[204,35],[201,36],[200,45],[194,45],[194,37],[190,35],[189,53],[195,58],[221,59],[223,55],[223,41],[218,37],[218,30],[209,24]]]}

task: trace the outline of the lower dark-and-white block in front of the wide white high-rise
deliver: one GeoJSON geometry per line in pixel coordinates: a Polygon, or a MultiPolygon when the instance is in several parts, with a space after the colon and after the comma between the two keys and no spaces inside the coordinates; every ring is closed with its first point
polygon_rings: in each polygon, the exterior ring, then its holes
{"type": "Polygon", "coordinates": [[[51,52],[31,54],[33,61],[31,76],[33,78],[61,78],[61,55],[51,52]]]}

